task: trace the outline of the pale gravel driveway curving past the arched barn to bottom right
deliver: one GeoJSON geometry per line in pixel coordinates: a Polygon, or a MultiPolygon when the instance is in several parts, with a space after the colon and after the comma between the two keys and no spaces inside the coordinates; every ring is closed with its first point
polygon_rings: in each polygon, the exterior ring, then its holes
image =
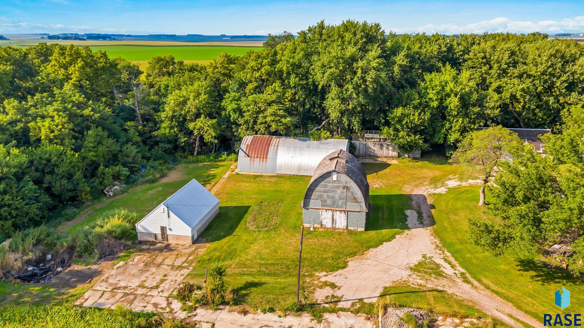
{"type": "Polygon", "coordinates": [[[444,193],[449,187],[474,183],[476,183],[474,180],[467,182],[449,180],[438,188],[412,187],[408,192],[416,211],[406,211],[411,230],[396,236],[391,242],[369,250],[363,256],[354,257],[343,270],[322,277],[321,281],[333,282],[338,288],[318,289],[315,297],[319,301],[324,301],[327,295],[340,296],[343,301],[339,302],[339,306],[348,307],[358,299],[374,302],[385,286],[405,281],[413,286],[425,287],[426,290],[440,289],[457,295],[512,327],[520,328],[523,325],[509,315],[531,326],[543,327],[533,317],[517,310],[512,303],[503,300],[470,278],[434,236],[432,228],[434,220],[427,197],[432,193],[444,193]],[[423,259],[436,262],[443,272],[442,277],[419,274],[411,270],[412,266],[423,259]],[[466,279],[463,280],[461,277],[466,279]]]}

